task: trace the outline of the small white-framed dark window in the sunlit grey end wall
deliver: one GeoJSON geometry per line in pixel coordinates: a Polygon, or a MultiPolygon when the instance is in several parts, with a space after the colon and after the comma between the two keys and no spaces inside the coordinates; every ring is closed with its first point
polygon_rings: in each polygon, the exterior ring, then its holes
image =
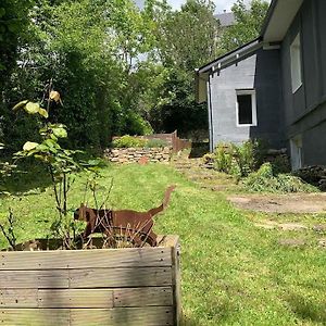
{"type": "Polygon", "coordinates": [[[237,90],[237,126],[256,126],[255,91],[237,90]]]}

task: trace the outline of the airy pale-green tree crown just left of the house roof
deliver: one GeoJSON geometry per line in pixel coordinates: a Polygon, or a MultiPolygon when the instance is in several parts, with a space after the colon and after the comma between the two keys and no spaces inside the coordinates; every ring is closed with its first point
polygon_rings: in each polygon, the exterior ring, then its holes
{"type": "Polygon", "coordinates": [[[218,53],[218,22],[212,1],[188,0],[159,25],[159,53],[164,66],[193,71],[218,53]]]}

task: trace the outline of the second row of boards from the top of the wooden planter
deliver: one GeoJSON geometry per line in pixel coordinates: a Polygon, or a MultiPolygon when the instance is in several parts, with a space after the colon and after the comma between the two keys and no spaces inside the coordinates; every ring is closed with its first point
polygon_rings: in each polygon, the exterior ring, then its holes
{"type": "Polygon", "coordinates": [[[172,285],[171,267],[0,271],[0,289],[121,288],[172,285]]]}

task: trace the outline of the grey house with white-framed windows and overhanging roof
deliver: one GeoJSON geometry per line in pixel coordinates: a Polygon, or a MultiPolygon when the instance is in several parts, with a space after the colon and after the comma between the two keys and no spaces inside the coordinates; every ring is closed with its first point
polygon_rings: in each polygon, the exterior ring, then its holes
{"type": "Polygon", "coordinates": [[[326,165],[326,1],[273,0],[258,39],[196,71],[211,150],[251,138],[326,165]]]}

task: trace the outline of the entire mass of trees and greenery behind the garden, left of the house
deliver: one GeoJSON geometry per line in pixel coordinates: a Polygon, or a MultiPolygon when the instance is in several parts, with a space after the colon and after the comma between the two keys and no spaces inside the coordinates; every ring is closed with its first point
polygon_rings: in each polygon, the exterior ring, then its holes
{"type": "MultiPolygon", "coordinates": [[[[241,3],[237,20],[247,17],[241,3]]],[[[154,0],[141,10],[133,0],[1,1],[1,142],[13,152],[30,138],[36,122],[11,108],[41,98],[50,83],[65,99],[51,122],[67,126],[72,148],[105,148],[125,134],[206,130],[192,84],[195,68],[228,50],[214,11],[211,0],[188,0],[177,11],[154,0]]],[[[242,25],[258,29],[258,12],[242,25]]]]}

